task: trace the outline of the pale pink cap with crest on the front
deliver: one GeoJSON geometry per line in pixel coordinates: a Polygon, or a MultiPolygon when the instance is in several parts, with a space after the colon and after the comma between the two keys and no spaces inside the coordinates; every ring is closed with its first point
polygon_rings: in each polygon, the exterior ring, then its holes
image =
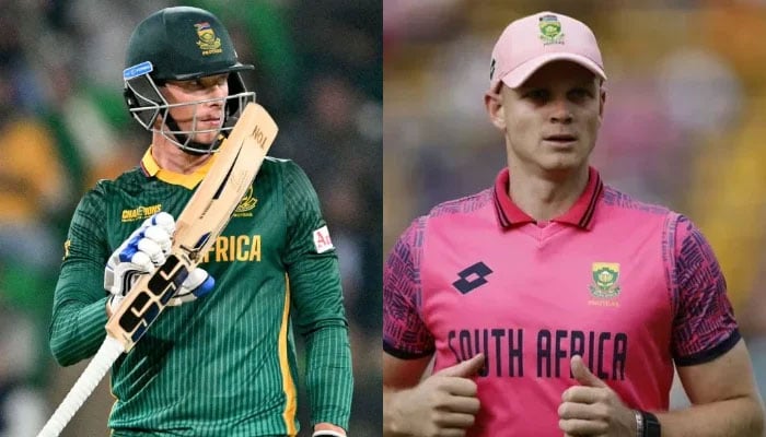
{"type": "Polygon", "coordinates": [[[517,88],[537,69],[558,60],[579,63],[606,80],[599,43],[584,23],[547,11],[519,19],[495,44],[489,90],[497,92],[500,82],[517,88]]]}

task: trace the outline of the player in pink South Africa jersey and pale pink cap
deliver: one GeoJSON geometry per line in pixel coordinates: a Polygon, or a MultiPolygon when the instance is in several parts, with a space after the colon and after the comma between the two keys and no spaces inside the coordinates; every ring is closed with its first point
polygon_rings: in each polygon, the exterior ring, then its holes
{"type": "Polygon", "coordinates": [[[761,436],[707,240],[589,166],[606,97],[593,33],[518,20],[490,74],[508,168],[413,222],[384,269],[384,436],[761,436]],[[674,366],[694,406],[668,412],[674,366]]]}

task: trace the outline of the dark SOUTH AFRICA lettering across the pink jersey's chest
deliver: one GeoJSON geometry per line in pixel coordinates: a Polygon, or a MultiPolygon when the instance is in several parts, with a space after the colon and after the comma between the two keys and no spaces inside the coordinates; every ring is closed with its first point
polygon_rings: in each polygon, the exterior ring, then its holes
{"type": "Polygon", "coordinates": [[[571,376],[569,359],[580,355],[599,378],[625,379],[628,335],[624,332],[541,329],[535,333],[521,328],[485,328],[452,330],[446,339],[457,361],[485,354],[480,376],[566,378],[571,376]],[[530,341],[536,343],[535,347],[525,344],[530,341]],[[534,361],[525,354],[534,354],[534,361]],[[525,368],[525,363],[534,363],[533,368],[525,368]]]}

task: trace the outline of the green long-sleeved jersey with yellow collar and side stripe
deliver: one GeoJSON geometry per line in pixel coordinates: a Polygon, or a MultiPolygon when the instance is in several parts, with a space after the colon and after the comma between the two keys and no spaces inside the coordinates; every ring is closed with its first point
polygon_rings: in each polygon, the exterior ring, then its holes
{"type": "MultiPolygon", "coordinates": [[[[105,338],[107,258],[147,217],[177,217],[209,165],[173,174],[149,151],[140,167],[83,197],[54,299],[50,347],[61,365],[92,356],[105,338]]],[[[337,256],[303,170],[267,157],[199,267],[213,291],[167,307],[115,363],[114,435],[295,435],[293,331],[305,338],[312,422],[348,428],[351,357],[337,256]]]]}

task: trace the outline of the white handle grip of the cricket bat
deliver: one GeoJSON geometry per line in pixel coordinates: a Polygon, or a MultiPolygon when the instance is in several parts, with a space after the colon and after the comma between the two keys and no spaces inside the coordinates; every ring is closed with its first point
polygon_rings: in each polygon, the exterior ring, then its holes
{"type": "Polygon", "coordinates": [[[37,437],[58,437],[74,413],[91,395],[115,361],[123,354],[123,344],[107,335],[91,363],[78,378],[61,404],[50,416],[37,437]]]}

